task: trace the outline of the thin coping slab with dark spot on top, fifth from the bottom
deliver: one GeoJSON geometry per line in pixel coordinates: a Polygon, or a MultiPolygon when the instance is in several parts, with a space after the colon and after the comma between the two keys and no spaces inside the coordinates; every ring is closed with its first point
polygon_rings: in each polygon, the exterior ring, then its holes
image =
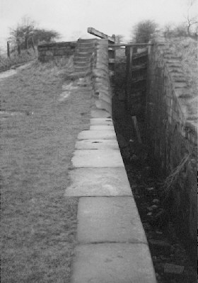
{"type": "Polygon", "coordinates": [[[116,139],[83,139],[76,141],[76,149],[119,149],[116,139]]]}

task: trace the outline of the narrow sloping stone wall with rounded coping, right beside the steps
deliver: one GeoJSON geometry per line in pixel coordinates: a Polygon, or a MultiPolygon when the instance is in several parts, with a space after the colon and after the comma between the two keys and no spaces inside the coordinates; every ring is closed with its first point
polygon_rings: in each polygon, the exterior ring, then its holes
{"type": "Polygon", "coordinates": [[[93,63],[95,106],[112,114],[112,91],[108,69],[108,40],[97,40],[93,63]]]}

